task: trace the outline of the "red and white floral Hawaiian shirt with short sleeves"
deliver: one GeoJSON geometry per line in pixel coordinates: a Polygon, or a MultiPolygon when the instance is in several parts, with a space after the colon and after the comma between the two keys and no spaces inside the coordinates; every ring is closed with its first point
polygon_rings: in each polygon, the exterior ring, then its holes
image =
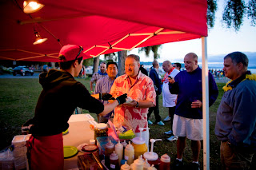
{"type": "MultiPolygon", "coordinates": [[[[124,93],[135,101],[152,101],[155,105],[156,93],[154,90],[154,82],[143,73],[139,72],[134,85],[130,85],[130,78],[124,74],[117,77],[110,89],[110,94],[118,97],[124,93]]],[[[134,132],[139,132],[138,128],[147,127],[148,108],[126,107],[118,105],[114,109],[113,123],[118,125],[127,125],[133,128],[134,132]]]]}

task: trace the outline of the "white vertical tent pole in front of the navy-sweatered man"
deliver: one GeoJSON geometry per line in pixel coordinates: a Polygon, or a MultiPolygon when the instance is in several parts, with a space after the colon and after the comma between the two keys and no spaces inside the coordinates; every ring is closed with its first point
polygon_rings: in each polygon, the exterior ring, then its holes
{"type": "Polygon", "coordinates": [[[209,136],[209,80],[207,39],[202,37],[202,118],[203,118],[203,169],[210,169],[209,136]]]}

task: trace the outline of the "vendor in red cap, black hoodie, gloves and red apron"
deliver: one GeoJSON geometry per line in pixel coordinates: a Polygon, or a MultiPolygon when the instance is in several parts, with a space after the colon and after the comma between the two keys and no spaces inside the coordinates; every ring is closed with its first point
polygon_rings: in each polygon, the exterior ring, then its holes
{"type": "MultiPolygon", "coordinates": [[[[126,101],[126,94],[113,103],[103,105],[90,96],[82,83],[74,80],[82,69],[83,49],[78,45],[65,45],[59,53],[61,70],[50,69],[39,76],[42,92],[38,98],[32,133],[27,147],[30,152],[30,169],[63,169],[63,139],[67,123],[76,107],[104,116],[126,101]]],[[[102,96],[102,95],[99,95],[102,96]]],[[[110,94],[101,99],[108,100],[110,94]]]]}

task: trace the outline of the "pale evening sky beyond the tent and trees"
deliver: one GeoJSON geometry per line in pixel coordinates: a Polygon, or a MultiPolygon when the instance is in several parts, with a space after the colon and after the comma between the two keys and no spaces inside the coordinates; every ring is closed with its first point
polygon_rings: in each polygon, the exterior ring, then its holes
{"type": "MultiPolygon", "coordinates": [[[[248,1],[245,1],[248,2],[248,1]]],[[[243,25],[238,32],[233,28],[227,29],[222,26],[222,11],[224,4],[218,1],[218,10],[215,14],[214,28],[208,30],[207,53],[208,58],[214,55],[223,55],[223,57],[234,51],[256,52],[256,27],[250,26],[250,20],[244,18],[243,25]]],[[[170,60],[171,62],[182,62],[186,53],[194,52],[200,58],[202,56],[202,40],[195,39],[184,42],[171,42],[162,45],[159,50],[159,62],[170,60]]],[[[129,53],[138,54],[141,61],[153,61],[153,53],[146,57],[145,53],[138,53],[138,49],[133,49],[129,53]]]]}

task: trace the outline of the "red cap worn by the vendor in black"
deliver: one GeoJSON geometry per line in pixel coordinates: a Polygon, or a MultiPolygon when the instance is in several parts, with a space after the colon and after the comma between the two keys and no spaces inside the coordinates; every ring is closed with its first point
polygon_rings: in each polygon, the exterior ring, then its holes
{"type": "Polygon", "coordinates": [[[59,52],[59,55],[63,55],[64,58],[58,58],[60,62],[72,61],[79,57],[85,57],[86,55],[82,52],[82,46],[79,45],[65,45],[59,52]],[[80,53],[79,53],[80,52],[80,53]],[[79,53],[79,54],[78,54],[79,53]]]}

